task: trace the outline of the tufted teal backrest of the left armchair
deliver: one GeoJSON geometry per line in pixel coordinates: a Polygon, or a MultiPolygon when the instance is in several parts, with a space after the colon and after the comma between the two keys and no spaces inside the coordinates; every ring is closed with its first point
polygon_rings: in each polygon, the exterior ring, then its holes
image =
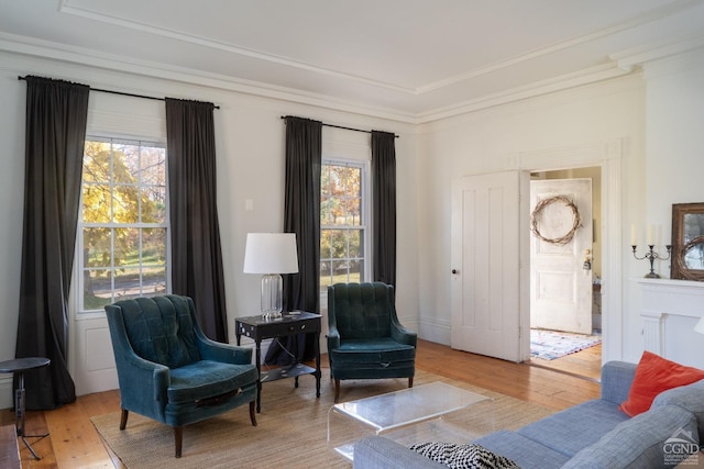
{"type": "Polygon", "coordinates": [[[190,298],[138,298],[116,305],[122,310],[128,340],[138,356],[170,369],[200,360],[190,298]]]}

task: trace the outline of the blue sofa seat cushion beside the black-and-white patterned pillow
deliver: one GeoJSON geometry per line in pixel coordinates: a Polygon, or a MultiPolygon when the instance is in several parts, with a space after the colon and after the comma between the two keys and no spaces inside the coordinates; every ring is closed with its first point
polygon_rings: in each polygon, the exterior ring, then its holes
{"type": "Polygon", "coordinates": [[[502,429],[473,440],[521,468],[558,469],[570,458],[515,432],[502,429]]]}

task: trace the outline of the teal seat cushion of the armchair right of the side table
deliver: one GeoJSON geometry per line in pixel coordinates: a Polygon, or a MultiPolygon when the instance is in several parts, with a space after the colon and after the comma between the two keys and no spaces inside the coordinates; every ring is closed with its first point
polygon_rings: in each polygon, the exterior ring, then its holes
{"type": "Polygon", "coordinates": [[[416,347],[399,344],[391,337],[342,340],[338,348],[330,350],[330,358],[336,365],[414,361],[416,347]]]}

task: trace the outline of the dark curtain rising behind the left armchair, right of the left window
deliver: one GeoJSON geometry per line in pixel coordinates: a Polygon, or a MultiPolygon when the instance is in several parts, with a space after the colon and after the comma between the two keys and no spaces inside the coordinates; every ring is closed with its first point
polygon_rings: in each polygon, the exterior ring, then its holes
{"type": "Polygon", "coordinates": [[[166,98],[172,291],[194,300],[208,337],[228,342],[213,109],[210,102],[166,98]]]}

